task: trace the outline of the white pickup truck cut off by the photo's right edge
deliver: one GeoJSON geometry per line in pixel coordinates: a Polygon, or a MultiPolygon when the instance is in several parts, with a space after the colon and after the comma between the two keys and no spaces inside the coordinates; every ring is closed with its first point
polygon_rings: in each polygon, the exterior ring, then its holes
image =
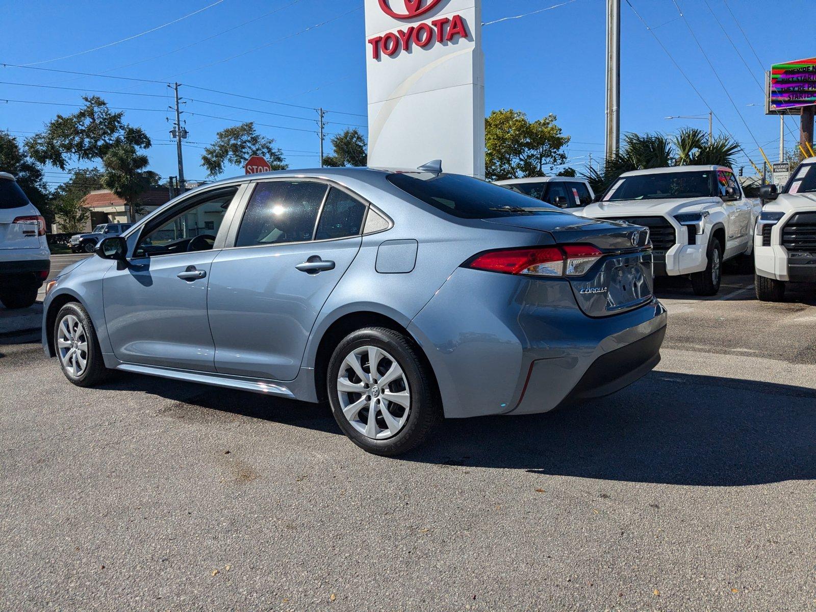
{"type": "Polygon", "coordinates": [[[756,224],[756,297],[781,302],[788,282],[816,282],[816,157],[801,162],[782,193],[760,188],[765,204],[756,224]]]}

